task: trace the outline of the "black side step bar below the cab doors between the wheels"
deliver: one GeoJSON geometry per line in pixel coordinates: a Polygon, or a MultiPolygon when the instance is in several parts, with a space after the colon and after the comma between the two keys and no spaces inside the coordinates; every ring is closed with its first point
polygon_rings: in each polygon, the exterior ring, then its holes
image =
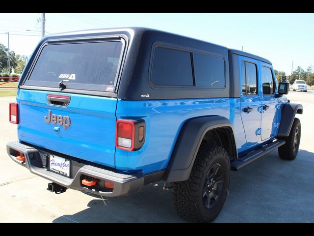
{"type": "Polygon", "coordinates": [[[285,140],[279,139],[275,142],[262,146],[262,148],[251,151],[247,153],[246,155],[238,158],[237,160],[230,162],[231,170],[237,171],[241,169],[242,167],[250,164],[251,162],[259,159],[263,155],[271,152],[272,150],[275,150],[276,148],[283,146],[285,143],[286,143],[285,140]]]}

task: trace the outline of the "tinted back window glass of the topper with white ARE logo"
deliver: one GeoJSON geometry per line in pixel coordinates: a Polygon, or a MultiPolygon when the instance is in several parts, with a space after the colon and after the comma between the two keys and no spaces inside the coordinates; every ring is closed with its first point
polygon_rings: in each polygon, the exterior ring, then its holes
{"type": "Polygon", "coordinates": [[[25,85],[114,91],[121,59],[121,41],[48,44],[25,85]]]}

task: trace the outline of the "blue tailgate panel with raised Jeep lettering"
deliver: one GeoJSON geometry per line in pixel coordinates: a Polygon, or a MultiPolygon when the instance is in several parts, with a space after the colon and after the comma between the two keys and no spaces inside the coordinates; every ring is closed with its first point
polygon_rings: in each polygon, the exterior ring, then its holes
{"type": "Polygon", "coordinates": [[[62,107],[50,105],[48,94],[60,93],[19,90],[19,140],[114,167],[117,99],[63,92],[61,95],[71,98],[68,106],[62,107]]]}

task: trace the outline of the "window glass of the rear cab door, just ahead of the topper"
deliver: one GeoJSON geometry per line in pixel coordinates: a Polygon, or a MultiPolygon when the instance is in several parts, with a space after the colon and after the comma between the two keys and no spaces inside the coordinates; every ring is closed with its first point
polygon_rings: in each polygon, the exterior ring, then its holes
{"type": "Polygon", "coordinates": [[[256,64],[242,61],[242,94],[256,95],[257,90],[257,70],[256,64]]]}

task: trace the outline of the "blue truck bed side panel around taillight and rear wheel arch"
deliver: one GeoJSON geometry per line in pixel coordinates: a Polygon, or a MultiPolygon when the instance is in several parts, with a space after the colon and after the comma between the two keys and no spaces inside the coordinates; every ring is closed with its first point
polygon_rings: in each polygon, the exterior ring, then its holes
{"type": "MultiPolygon", "coordinates": [[[[145,174],[166,169],[184,122],[219,115],[239,125],[238,143],[245,140],[238,99],[118,100],[117,119],[142,118],[146,122],[145,144],[137,151],[116,149],[116,168],[145,174]],[[230,109],[231,101],[232,109],[230,109]]],[[[241,148],[239,146],[238,148],[241,148]]]]}

